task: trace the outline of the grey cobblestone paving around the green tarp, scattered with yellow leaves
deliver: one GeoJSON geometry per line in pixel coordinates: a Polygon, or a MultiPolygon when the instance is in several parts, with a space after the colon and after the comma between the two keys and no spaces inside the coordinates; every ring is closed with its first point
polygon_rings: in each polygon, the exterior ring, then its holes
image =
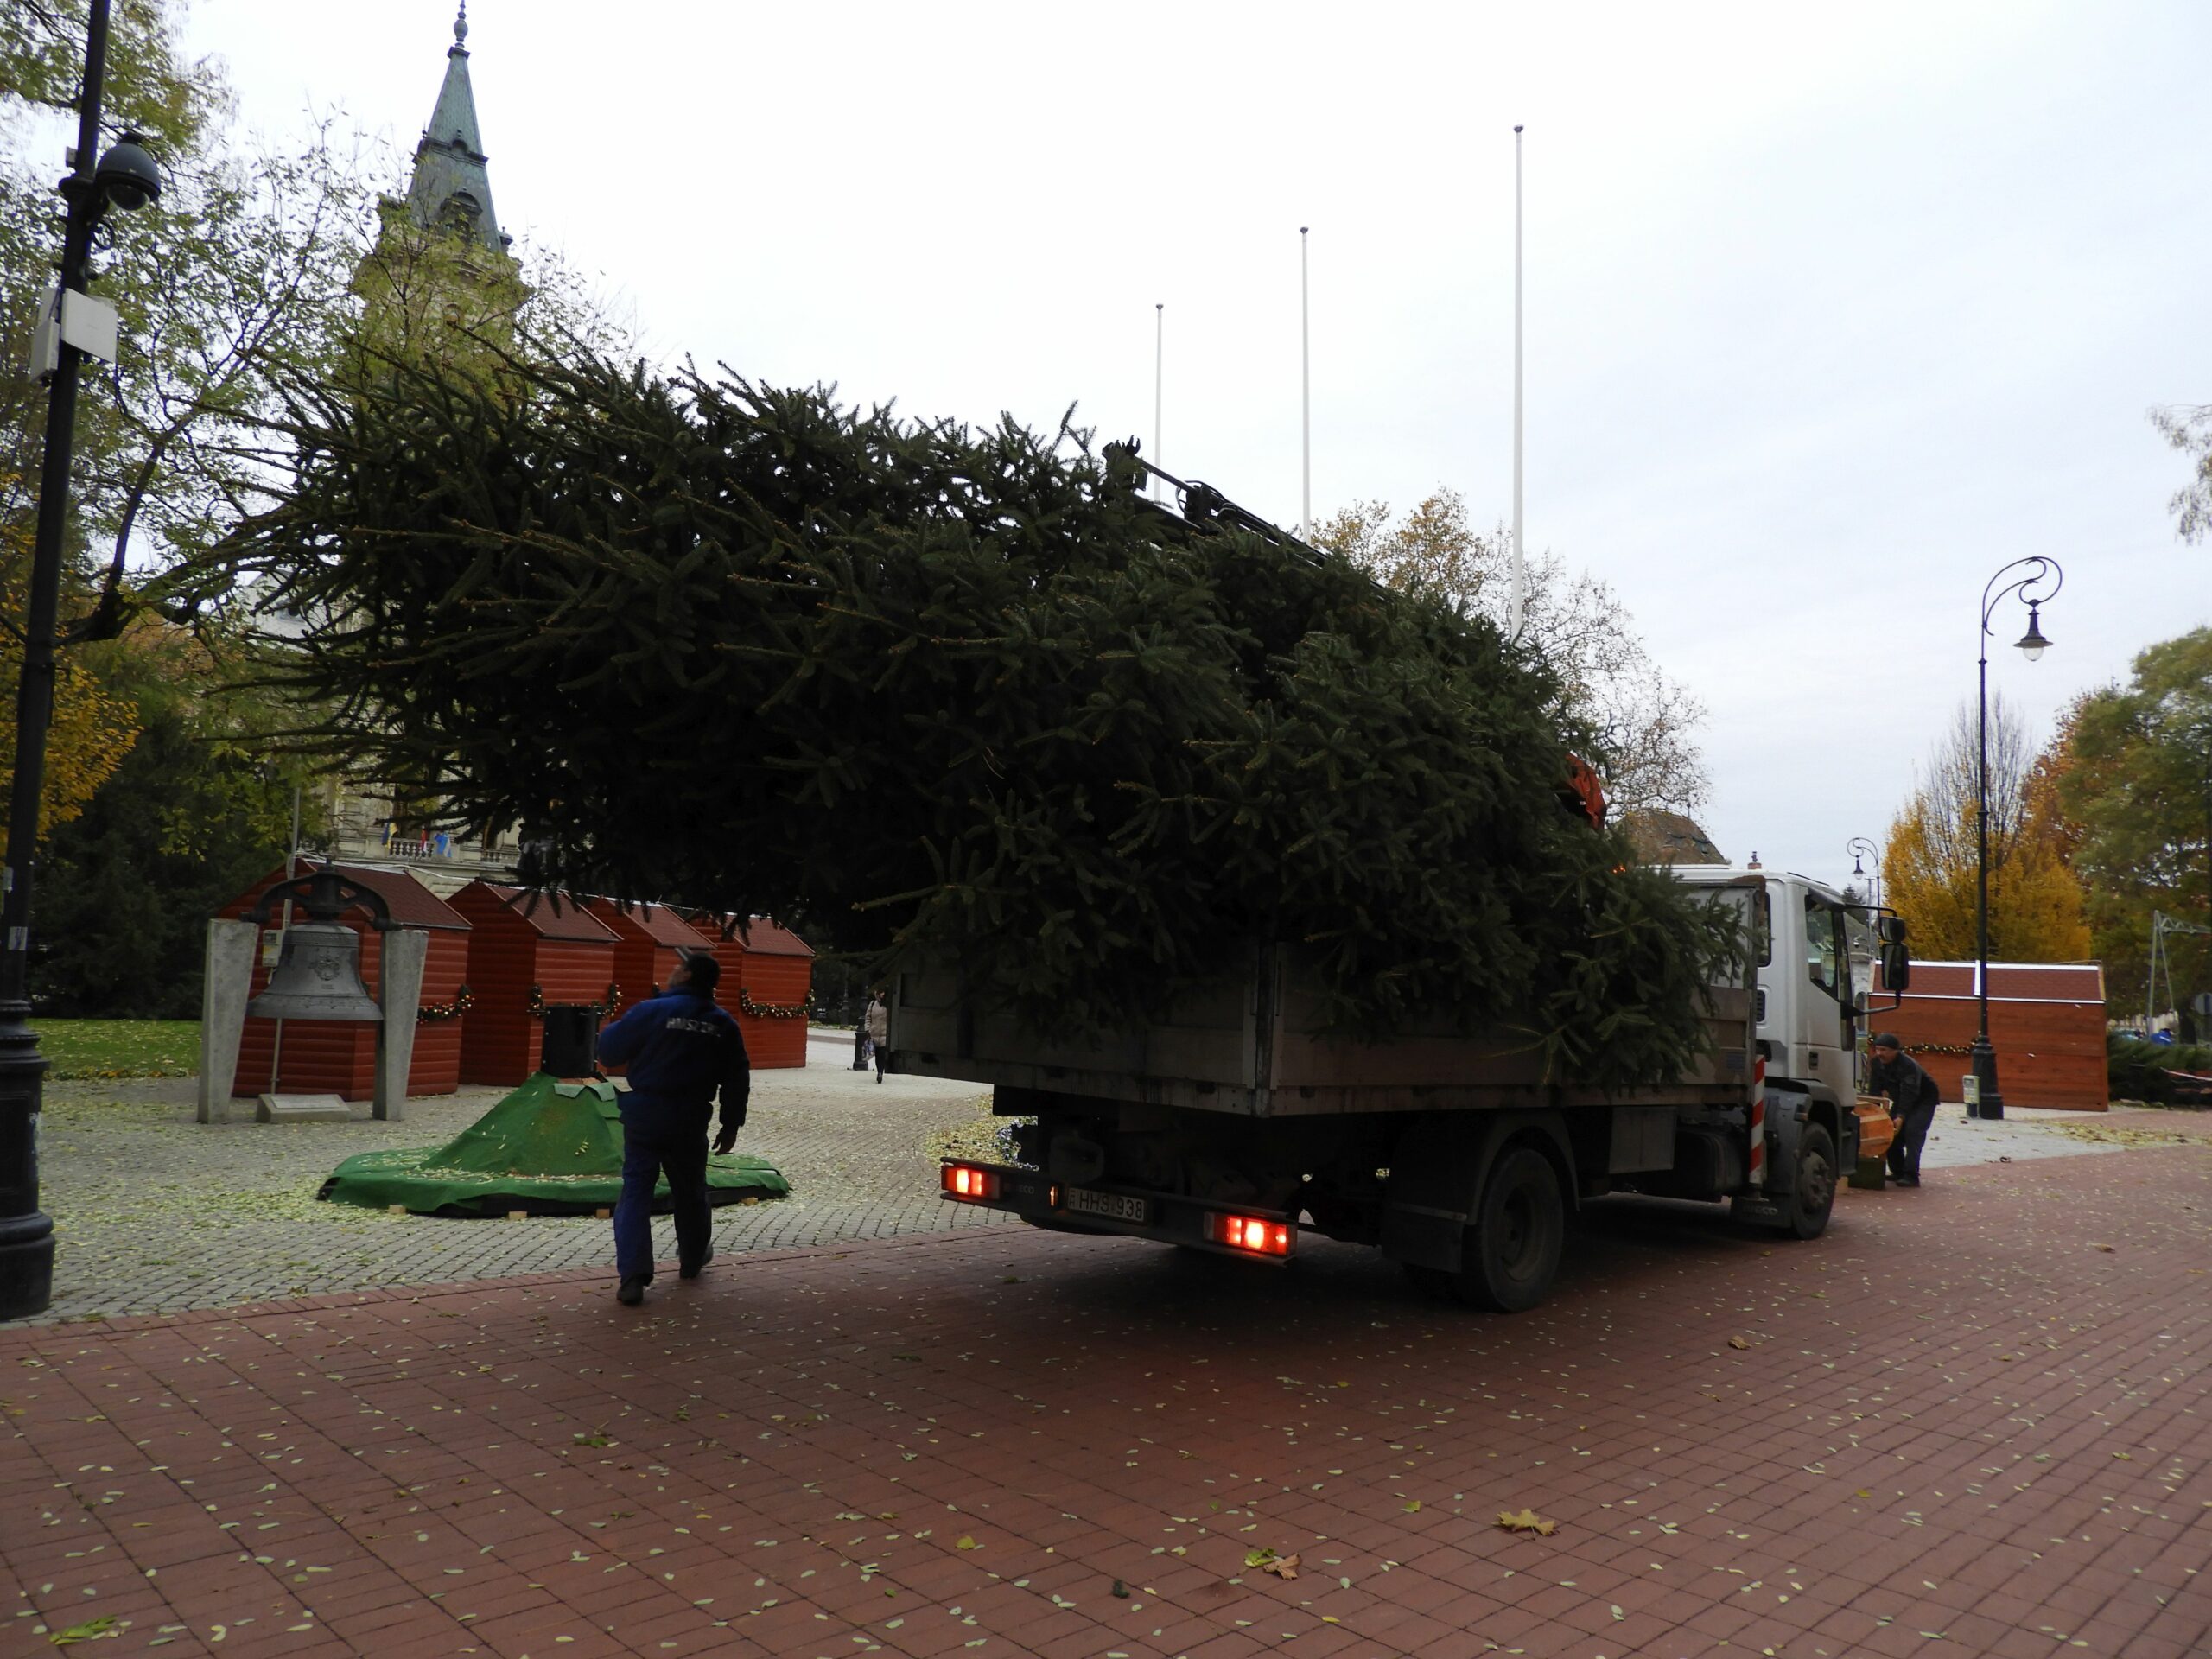
{"type": "MultiPolygon", "coordinates": [[[[714,1250],[783,1250],[956,1225],[1004,1225],[938,1197],[929,1137],[975,1117],[984,1091],[852,1071],[852,1037],[810,1064],[754,1073],[739,1150],[792,1197],[714,1210],[714,1250]]],[[[469,1088],[407,1104],[400,1124],[195,1124],[192,1079],[49,1084],[42,1206],[55,1219],[49,1321],[223,1307],[365,1285],[434,1285],[613,1263],[593,1217],[440,1221],[316,1203],[354,1152],[436,1146],[500,1099],[469,1088]]],[[[675,1256],[666,1217],[661,1254],[675,1256]]]]}

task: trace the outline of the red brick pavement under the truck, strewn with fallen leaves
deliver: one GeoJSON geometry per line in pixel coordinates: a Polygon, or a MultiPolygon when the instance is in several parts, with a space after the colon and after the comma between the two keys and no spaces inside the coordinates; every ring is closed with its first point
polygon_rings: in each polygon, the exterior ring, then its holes
{"type": "Polygon", "coordinates": [[[1613,1201],[1517,1318],[995,1228],[11,1329],[0,1650],[2181,1659],[2208,1267],[2192,1144],[1613,1201]]]}

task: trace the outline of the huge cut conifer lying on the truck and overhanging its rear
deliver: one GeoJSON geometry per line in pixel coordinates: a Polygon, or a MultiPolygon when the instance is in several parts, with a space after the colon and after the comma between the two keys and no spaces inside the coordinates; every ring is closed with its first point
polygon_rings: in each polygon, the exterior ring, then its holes
{"type": "Polygon", "coordinates": [[[1261,942],[1332,1018],[1451,1011],[1584,1082],[1697,1042],[1717,922],[1559,805],[1542,661],[1082,434],[588,356],[303,405],[226,557],[274,672],[544,880],[852,911],[1060,1029],[1261,942]]]}

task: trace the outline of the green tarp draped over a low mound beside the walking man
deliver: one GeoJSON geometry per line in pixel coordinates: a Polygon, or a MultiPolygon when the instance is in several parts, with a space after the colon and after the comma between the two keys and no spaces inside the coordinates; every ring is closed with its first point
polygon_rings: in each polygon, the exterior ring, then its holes
{"type": "MultiPolygon", "coordinates": [[[[538,1073],[445,1146],[356,1152],[319,1199],[414,1214],[591,1214],[622,1197],[622,1110],[613,1084],[564,1084],[538,1073]]],[[[781,1199],[792,1183],[765,1159],[710,1157],[708,1203],[781,1199]]],[[[653,1194],[668,1210],[668,1181],[653,1194]]]]}

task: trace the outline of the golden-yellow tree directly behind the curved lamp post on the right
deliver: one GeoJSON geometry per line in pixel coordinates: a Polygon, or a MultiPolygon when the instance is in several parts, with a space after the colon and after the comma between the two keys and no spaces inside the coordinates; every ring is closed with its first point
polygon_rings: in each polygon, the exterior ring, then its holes
{"type": "MultiPolygon", "coordinates": [[[[1964,703],[1889,825],[1882,876],[1911,931],[1913,953],[1978,953],[1978,728],[1964,703]]],[[[2090,936],[2068,867],[2068,827],[2026,721],[1989,699],[1989,953],[2006,962],[2077,962],[2090,936]]]]}

